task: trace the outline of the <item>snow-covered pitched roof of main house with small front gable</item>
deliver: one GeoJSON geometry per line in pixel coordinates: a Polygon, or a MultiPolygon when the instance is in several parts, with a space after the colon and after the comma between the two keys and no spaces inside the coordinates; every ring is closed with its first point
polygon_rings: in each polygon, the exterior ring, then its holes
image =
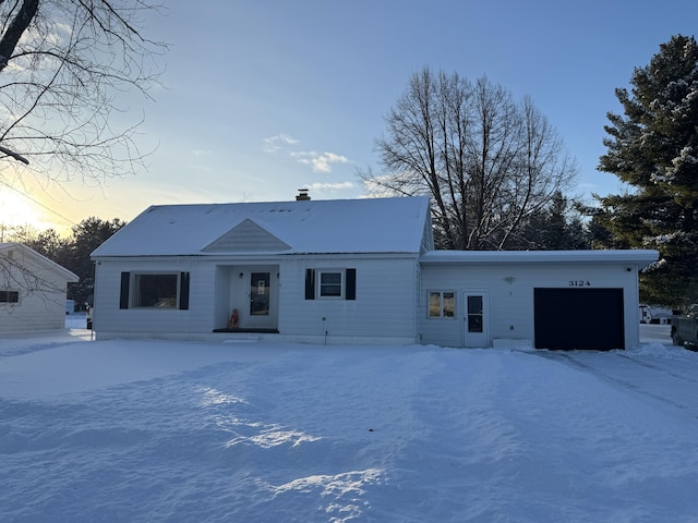
{"type": "MultiPolygon", "coordinates": [[[[416,253],[428,197],[152,206],[93,257],[416,253]]],[[[429,239],[431,241],[431,236],[429,239]]]]}

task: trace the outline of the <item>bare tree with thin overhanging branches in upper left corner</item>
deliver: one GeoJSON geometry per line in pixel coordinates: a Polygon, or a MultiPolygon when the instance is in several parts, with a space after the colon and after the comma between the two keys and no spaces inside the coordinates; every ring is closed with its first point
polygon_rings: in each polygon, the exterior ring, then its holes
{"type": "MultiPolygon", "coordinates": [[[[166,50],[140,29],[147,0],[0,0],[0,143],[44,180],[99,182],[143,163],[118,95],[146,98],[166,50]],[[118,117],[118,118],[117,118],[118,117]]],[[[17,159],[17,158],[15,158],[17,159]]],[[[0,165],[8,183],[15,161],[0,165]]]]}

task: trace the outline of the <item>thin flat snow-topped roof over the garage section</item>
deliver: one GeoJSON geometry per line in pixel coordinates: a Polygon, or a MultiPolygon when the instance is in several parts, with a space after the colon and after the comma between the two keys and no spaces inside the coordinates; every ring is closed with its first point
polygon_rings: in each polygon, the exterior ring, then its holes
{"type": "Polygon", "coordinates": [[[503,264],[637,264],[647,266],[657,262],[659,253],[652,250],[625,251],[431,251],[422,254],[422,265],[503,265],[503,264]]]}

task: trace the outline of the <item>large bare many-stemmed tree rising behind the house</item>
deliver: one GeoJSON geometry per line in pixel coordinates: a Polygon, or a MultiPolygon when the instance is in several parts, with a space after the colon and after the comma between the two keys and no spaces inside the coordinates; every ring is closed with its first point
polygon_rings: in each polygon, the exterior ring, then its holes
{"type": "Polygon", "coordinates": [[[414,73],[376,141],[387,173],[359,172],[384,195],[429,195],[442,248],[520,244],[527,218],[565,188],[576,165],[530,98],[486,78],[414,73]]]}

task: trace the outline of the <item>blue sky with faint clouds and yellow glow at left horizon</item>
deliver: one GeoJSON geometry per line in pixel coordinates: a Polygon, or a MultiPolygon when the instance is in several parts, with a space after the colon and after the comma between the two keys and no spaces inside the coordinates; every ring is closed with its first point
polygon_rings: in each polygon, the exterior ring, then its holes
{"type": "MultiPolygon", "coordinates": [[[[530,96],[579,175],[570,195],[622,187],[597,171],[606,113],[673,35],[695,35],[698,2],[589,0],[165,1],[143,33],[166,41],[163,86],[117,101],[145,115],[147,169],[29,198],[0,191],[2,224],[130,221],[151,205],[358,198],[381,171],[375,139],[409,76],[428,65],[530,96]],[[564,7],[562,7],[564,5],[564,7]]],[[[119,118],[125,118],[119,117],[119,118]]]]}

